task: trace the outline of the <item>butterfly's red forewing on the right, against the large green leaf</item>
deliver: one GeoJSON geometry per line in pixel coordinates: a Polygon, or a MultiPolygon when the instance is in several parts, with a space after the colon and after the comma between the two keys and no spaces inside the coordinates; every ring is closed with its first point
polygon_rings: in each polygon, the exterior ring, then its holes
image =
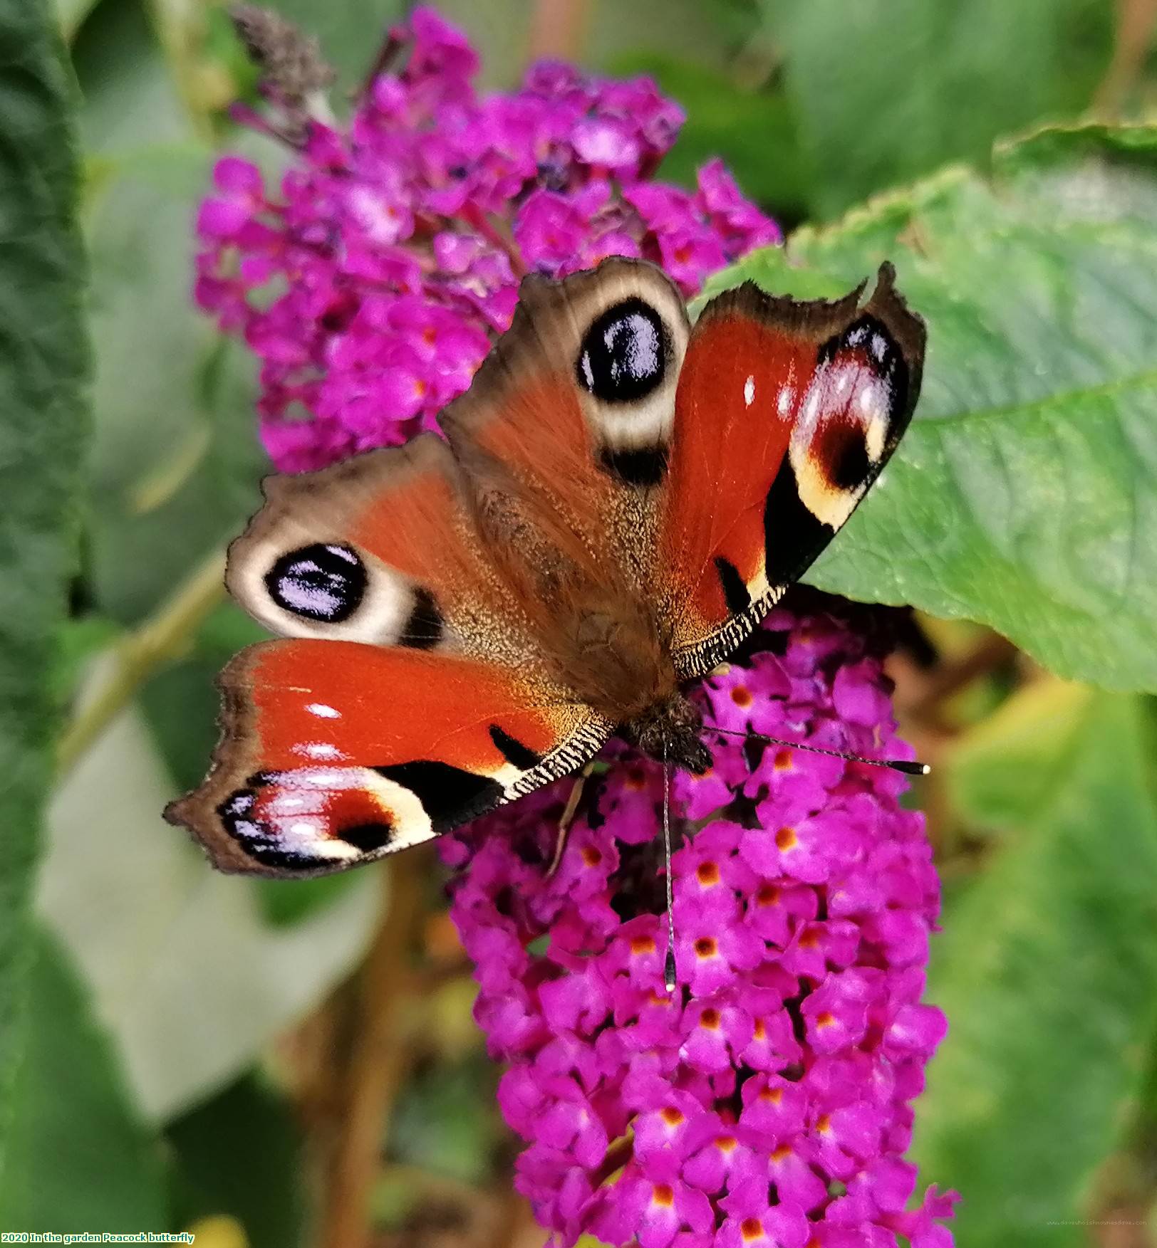
{"type": "Polygon", "coordinates": [[[923,323],[880,270],[871,298],[726,291],[692,331],[660,520],[676,668],[701,675],[835,537],[908,424],[923,323]]]}

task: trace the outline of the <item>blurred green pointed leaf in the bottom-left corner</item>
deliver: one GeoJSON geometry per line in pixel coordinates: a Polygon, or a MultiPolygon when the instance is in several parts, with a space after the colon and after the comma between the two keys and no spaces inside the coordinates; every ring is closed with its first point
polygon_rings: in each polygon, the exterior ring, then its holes
{"type": "Polygon", "coordinates": [[[42,932],[31,986],[30,1043],[12,1093],[0,1224],[56,1234],[165,1229],[160,1143],[129,1098],[75,971],[42,932]]]}

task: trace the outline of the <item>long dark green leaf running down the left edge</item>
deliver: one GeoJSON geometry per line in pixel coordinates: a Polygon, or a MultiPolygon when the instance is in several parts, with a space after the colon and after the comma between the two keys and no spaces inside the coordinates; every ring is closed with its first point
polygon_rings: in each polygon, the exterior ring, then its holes
{"type": "Polygon", "coordinates": [[[0,1104],[24,1035],[29,905],[87,439],[72,91],[51,21],[30,4],[0,15],[0,1104]]]}

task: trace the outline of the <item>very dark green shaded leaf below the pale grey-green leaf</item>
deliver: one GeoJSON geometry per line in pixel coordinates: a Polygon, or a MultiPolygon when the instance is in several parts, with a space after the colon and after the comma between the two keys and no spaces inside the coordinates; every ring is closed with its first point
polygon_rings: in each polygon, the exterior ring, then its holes
{"type": "Polygon", "coordinates": [[[307,1184],[301,1127],[276,1091],[250,1072],[171,1122],[176,1223],[229,1214],[249,1248],[292,1248],[302,1239],[307,1184]]]}

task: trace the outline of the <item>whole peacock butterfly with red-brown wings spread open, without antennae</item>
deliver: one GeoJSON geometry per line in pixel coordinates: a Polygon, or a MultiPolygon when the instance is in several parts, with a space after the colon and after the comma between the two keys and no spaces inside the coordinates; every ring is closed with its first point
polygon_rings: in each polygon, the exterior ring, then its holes
{"type": "Polygon", "coordinates": [[[613,733],[710,766],[688,681],[823,549],[906,428],[923,326],[871,298],[725,292],[610,260],[524,282],[424,434],[271,478],[230,549],[282,640],[221,676],[205,782],[166,811],[224,870],[302,876],[436,836],[613,733]]]}

